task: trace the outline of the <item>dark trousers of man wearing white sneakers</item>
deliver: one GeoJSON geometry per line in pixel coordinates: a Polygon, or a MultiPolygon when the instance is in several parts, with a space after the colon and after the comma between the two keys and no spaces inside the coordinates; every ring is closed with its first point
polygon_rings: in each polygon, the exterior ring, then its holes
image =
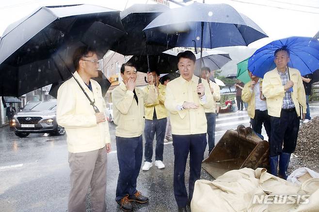
{"type": "Polygon", "coordinates": [[[153,157],[153,140],[156,133],[155,160],[163,161],[164,137],[167,119],[145,120],[145,161],[152,162],[153,157]]]}

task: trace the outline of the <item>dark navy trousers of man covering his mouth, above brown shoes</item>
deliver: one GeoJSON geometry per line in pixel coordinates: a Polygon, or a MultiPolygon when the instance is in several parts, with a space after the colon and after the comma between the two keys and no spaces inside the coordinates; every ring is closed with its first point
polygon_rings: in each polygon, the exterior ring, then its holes
{"type": "Polygon", "coordinates": [[[139,176],[143,158],[143,137],[116,136],[117,161],[120,173],[117,179],[116,198],[137,192],[136,180],[139,176]]]}

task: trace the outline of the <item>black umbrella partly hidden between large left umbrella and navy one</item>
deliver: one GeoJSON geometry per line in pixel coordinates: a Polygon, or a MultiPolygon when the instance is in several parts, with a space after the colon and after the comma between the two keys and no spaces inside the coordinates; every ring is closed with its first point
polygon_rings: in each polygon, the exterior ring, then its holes
{"type": "Polygon", "coordinates": [[[166,50],[162,45],[147,45],[143,29],[160,15],[169,10],[162,4],[134,4],[121,12],[121,21],[127,34],[117,43],[112,50],[122,55],[152,55],[166,50]]]}

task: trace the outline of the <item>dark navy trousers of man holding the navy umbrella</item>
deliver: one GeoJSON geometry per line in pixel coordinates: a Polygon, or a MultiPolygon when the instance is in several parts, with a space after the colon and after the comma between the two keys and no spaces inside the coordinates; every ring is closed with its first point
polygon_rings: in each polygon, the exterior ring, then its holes
{"type": "Polygon", "coordinates": [[[201,176],[201,165],[207,146],[206,133],[195,135],[174,135],[174,195],[179,208],[191,201],[195,181],[201,176]],[[185,186],[185,169],[190,153],[189,197],[185,186]]]}

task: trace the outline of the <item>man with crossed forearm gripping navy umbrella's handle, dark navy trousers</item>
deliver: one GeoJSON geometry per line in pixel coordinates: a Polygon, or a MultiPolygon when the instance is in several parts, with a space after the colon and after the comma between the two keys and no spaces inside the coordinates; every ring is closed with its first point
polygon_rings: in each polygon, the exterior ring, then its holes
{"type": "Polygon", "coordinates": [[[195,55],[191,51],[177,55],[180,77],[166,86],[165,107],[170,112],[174,146],[174,194],[178,211],[185,212],[191,203],[194,183],[200,178],[207,146],[205,109],[213,104],[207,81],[194,76],[195,55]],[[185,186],[185,169],[190,153],[189,195],[185,186]]]}

